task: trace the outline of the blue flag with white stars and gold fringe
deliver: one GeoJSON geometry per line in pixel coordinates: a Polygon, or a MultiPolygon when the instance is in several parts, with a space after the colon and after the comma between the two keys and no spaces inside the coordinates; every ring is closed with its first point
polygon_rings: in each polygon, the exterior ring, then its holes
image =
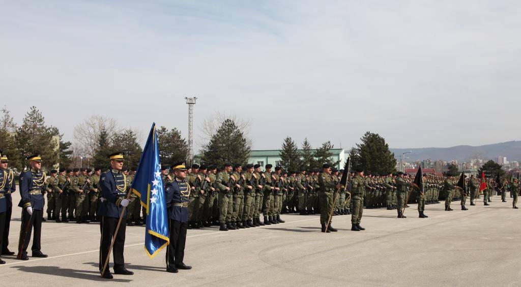
{"type": "Polygon", "coordinates": [[[155,123],[148,134],[131,190],[146,210],[145,251],[152,258],[170,241],[155,123]]]}

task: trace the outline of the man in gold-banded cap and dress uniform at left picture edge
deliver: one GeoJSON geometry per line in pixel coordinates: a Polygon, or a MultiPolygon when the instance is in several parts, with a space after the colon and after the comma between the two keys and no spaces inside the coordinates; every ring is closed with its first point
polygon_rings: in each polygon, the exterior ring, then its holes
{"type": "MultiPolygon", "coordinates": [[[[0,246],[2,247],[2,255],[13,255],[12,251],[9,251],[7,245],[9,245],[9,226],[11,225],[11,213],[13,212],[13,199],[11,199],[11,193],[16,191],[15,175],[13,171],[8,168],[9,159],[7,155],[0,151],[0,193],[4,194],[5,197],[5,219],[2,225],[2,219],[0,219],[0,246]],[[3,226],[3,227],[2,227],[3,226]]],[[[0,195],[2,196],[2,195],[0,195]]]]}

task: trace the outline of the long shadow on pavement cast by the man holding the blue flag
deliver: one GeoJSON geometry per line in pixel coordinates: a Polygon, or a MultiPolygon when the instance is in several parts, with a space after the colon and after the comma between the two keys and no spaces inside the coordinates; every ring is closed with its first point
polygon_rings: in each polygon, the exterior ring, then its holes
{"type": "MultiPolygon", "coordinates": [[[[97,267],[97,264],[96,264],[97,267]]],[[[106,281],[106,282],[123,282],[128,283],[132,280],[129,279],[103,279],[100,277],[99,271],[90,270],[76,270],[70,268],[61,268],[56,266],[13,266],[11,268],[17,268],[23,272],[39,273],[45,275],[54,275],[68,278],[77,278],[91,281],[106,281]]],[[[115,275],[117,277],[118,275],[115,275]]]]}

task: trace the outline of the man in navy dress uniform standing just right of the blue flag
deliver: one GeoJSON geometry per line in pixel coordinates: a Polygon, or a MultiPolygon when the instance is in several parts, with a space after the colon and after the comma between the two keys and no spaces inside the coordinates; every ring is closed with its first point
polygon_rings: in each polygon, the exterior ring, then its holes
{"type": "Polygon", "coordinates": [[[168,178],[165,185],[165,202],[168,208],[168,225],[170,242],[166,248],[166,271],[177,273],[178,269],[189,270],[191,266],[183,263],[184,245],[188,229],[188,198],[190,186],[185,178],[187,168],[184,164],[172,165],[173,179],[168,178]]]}

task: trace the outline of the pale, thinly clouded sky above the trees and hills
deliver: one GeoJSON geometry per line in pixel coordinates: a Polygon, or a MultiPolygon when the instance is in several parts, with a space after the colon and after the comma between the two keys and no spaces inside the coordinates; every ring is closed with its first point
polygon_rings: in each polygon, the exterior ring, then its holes
{"type": "Polygon", "coordinates": [[[185,96],[196,142],[215,111],[250,120],[255,149],[519,139],[516,1],[0,3],[1,104],[69,139],[92,113],[186,135],[185,96]]]}

